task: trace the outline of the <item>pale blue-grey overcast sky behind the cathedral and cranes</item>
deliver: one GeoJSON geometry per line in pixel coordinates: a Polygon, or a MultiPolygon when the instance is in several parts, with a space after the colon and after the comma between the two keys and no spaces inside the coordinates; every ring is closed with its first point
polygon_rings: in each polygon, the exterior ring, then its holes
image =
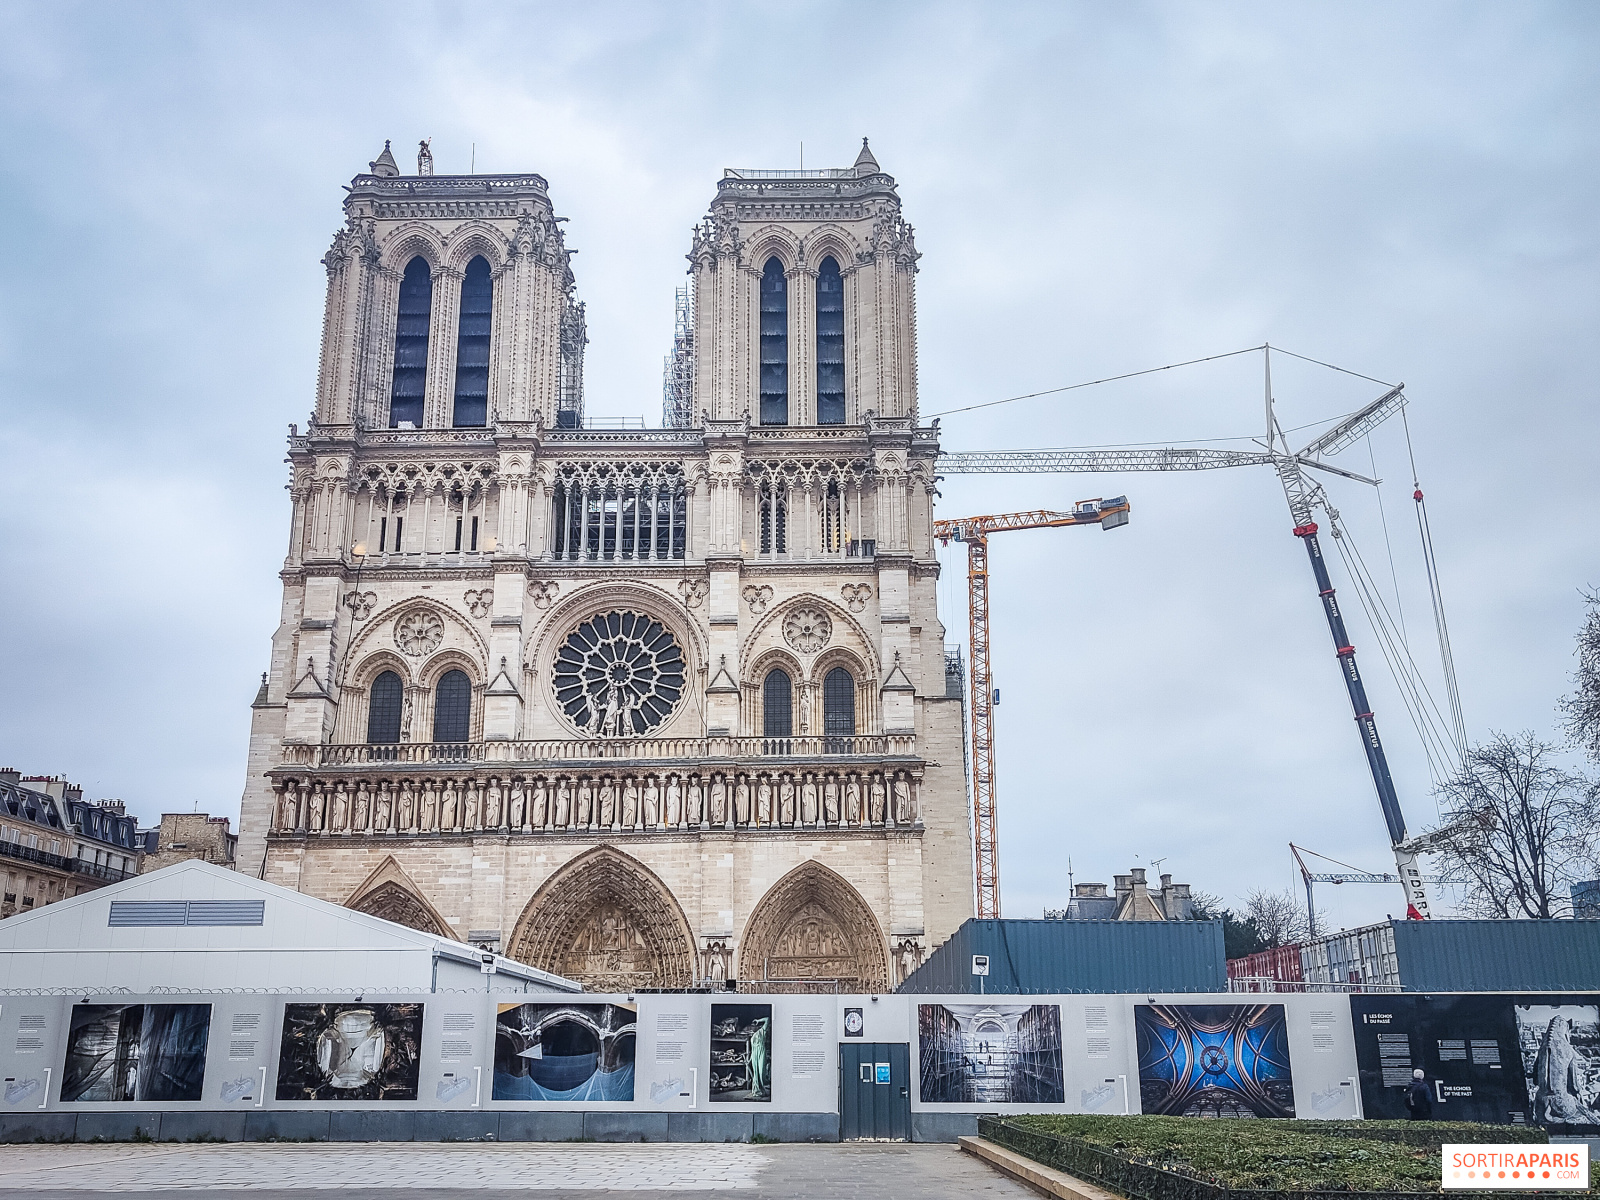
{"type": "MultiPolygon", "coordinates": [[[[406,171],[432,138],[440,173],[550,181],[590,414],[659,421],[722,168],[798,166],[802,142],[842,166],[862,134],[923,251],[923,413],[1264,341],[1403,381],[1469,733],[1550,734],[1600,584],[1597,34],[1590,3],[3,3],[0,757],[146,821],[237,814],[318,258],[386,138],[406,171]]],[[[1278,358],[1274,381],[1285,426],[1382,390],[1278,358]]],[[[1261,410],[1245,355],[942,429],[947,450],[1245,438],[1261,410]]],[[[1382,507],[1333,494],[1386,582],[1394,555],[1432,667],[1405,430],[1338,461],[1386,480],[1382,507]]],[[[1069,858],[1107,883],[1160,861],[1229,901],[1288,886],[1291,838],[1389,867],[1269,470],[942,493],[950,517],[1133,502],[1110,534],[994,544],[1006,915],[1064,902],[1069,858]]],[[[944,563],[954,645],[965,558],[944,563]]],[[[1418,829],[1426,763],[1347,598],[1418,829]]],[[[1336,923],[1400,904],[1322,891],[1336,923]]]]}

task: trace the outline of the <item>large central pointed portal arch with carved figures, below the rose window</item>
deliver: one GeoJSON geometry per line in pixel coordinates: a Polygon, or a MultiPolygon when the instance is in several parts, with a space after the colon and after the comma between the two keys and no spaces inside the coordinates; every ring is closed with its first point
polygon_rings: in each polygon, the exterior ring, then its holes
{"type": "Polygon", "coordinates": [[[523,909],[509,954],[592,992],[688,987],[696,974],[694,936],[672,893],[610,846],[546,880],[523,909]]]}

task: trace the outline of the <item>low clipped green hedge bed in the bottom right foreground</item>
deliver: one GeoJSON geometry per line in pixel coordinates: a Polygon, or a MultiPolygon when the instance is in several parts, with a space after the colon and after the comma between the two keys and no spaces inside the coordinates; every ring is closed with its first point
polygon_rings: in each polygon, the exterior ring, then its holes
{"type": "MultiPolygon", "coordinates": [[[[981,1117],[978,1131],[1128,1200],[1309,1200],[1326,1192],[1360,1192],[1376,1200],[1437,1194],[1438,1139],[1413,1142],[1421,1130],[1382,1125],[1389,1138],[1374,1128],[1357,1139],[1344,1130],[1323,1130],[1325,1122],[1027,1115],[981,1117]]],[[[1448,1136],[1526,1141],[1522,1130],[1514,1138],[1485,1136],[1507,1128],[1454,1123],[1448,1136]]],[[[1531,1194],[1498,1194],[1496,1200],[1512,1195],[1531,1194]]]]}

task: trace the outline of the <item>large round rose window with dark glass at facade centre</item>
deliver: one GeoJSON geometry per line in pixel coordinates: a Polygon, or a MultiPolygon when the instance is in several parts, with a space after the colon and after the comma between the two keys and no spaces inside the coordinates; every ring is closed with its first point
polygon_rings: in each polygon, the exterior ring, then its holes
{"type": "Polygon", "coordinates": [[[683,682],[678,640],[642,613],[592,616],[555,654],[555,702],[597,738],[650,733],[672,715],[683,682]]]}

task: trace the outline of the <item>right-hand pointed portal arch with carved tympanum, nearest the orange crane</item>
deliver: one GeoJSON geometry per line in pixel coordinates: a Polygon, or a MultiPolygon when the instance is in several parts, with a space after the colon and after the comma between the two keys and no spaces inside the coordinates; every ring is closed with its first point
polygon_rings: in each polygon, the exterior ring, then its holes
{"type": "Polygon", "coordinates": [[[774,883],[750,914],[741,938],[739,979],[816,981],[819,990],[885,992],[888,947],[861,893],[821,862],[805,862],[774,883]]]}

